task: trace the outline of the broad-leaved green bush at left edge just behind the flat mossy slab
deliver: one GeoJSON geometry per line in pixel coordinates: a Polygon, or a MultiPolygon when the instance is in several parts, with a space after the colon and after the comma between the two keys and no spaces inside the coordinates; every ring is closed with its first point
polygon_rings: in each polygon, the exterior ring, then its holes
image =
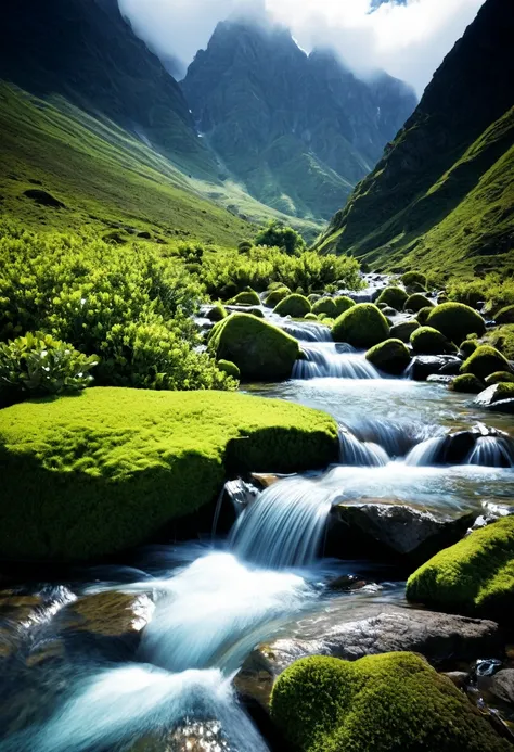
{"type": "Polygon", "coordinates": [[[0,343],[0,405],[83,390],[98,361],[42,332],[0,343]]]}

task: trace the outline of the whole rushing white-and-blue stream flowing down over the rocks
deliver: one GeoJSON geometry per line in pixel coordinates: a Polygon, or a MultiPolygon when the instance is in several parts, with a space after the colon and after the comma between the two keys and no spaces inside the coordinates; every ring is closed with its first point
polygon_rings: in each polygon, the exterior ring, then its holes
{"type": "Polygon", "coordinates": [[[478,438],[464,463],[434,463],[450,431],[485,422],[512,435],[512,418],[486,415],[473,397],[438,384],[382,378],[325,327],[274,322],[300,340],[307,359],[290,381],[243,391],[334,416],[339,463],[273,483],[227,536],[27,585],[13,594],[34,602],[23,613],[0,601],[0,752],[273,749],[233,685],[252,650],[279,636],[316,636],[320,619],[350,620],[363,602],[409,608],[390,564],[368,561],[365,551],[359,561],[320,557],[332,506],[370,498],[479,513],[484,500],[514,495],[514,455],[502,438],[478,438]],[[346,574],[374,586],[333,591],[330,582],[346,574]],[[69,604],[112,591],[155,603],[133,653],[98,651],[79,627],[73,640],[69,630],[60,638],[69,604]]]}

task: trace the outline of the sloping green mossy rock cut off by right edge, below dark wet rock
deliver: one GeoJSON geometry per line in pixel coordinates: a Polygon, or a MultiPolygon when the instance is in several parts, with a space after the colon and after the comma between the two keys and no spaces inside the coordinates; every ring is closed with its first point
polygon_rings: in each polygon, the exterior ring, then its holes
{"type": "Polygon", "coordinates": [[[407,597],[509,622],[514,616],[514,517],[436,553],[409,577],[407,597]]]}

